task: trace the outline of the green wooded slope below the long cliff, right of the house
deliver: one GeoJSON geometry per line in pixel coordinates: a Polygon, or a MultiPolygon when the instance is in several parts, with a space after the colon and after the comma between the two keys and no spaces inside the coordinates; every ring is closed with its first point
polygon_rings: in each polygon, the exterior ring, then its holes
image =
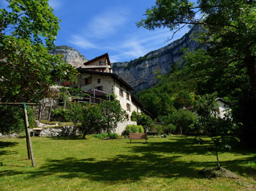
{"type": "Polygon", "coordinates": [[[153,118],[168,116],[175,111],[175,107],[180,108],[193,103],[195,79],[180,78],[187,76],[184,73],[184,69],[175,70],[162,77],[160,82],[152,88],[136,93],[136,97],[144,103],[146,110],[150,111],[153,118]]]}

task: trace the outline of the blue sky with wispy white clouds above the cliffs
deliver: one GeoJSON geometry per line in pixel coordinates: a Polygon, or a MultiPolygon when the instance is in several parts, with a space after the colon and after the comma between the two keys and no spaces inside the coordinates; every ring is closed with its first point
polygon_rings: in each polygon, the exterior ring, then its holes
{"type": "MultiPolygon", "coordinates": [[[[166,40],[172,37],[169,29],[136,27],[155,0],[50,0],[49,4],[61,19],[56,45],[74,47],[88,60],[108,52],[110,62],[130,61],[168,45],[166,40]]],[[[182,29],[173,40],[185,32],[182,29]]]]}

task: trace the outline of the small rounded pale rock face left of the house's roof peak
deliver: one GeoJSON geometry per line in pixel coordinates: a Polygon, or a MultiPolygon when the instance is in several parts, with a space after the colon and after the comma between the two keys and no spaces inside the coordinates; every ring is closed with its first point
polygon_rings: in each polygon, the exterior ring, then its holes
{"type": "Polygon", "coordinates": [[[84,55],[81,55],[80,52],[66,45],[55,47],[50,51],[50,54],[63,55],[63,60],[68,62],[70,65],[73,65],[74,67],[80,67],[81,64],[88,61],[87,58],[84,57],[84,55]]]}

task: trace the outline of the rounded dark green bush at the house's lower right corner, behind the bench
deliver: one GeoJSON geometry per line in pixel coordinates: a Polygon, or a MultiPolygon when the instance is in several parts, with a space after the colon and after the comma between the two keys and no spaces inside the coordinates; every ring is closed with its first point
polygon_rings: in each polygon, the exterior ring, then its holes
{"type": "Polygon", "coordinates": [[[153,120],[143,112],[137,113],[136,111],[133,111],[131,114],[131,121],[136,121],[139,126],[143,126],[145,132],[151,131],[153,127],[153,120]]]}

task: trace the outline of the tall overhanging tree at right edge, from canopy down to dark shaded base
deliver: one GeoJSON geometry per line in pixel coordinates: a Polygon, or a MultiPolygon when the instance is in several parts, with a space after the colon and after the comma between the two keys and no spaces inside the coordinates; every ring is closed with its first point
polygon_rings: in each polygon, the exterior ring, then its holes
{"type": "Polygon", "coordinates": [[[218,92],[232,103],[237,134],[250,145],[256,136],[256,27],[255,1],[156,1],[138,26],[168,27],[177,32],[186,24],[196,27],[203,49],[187,52],[187,77],[198,93],[218,92]],[[200,14],[200,17],[198,17],[200,14]]]}

